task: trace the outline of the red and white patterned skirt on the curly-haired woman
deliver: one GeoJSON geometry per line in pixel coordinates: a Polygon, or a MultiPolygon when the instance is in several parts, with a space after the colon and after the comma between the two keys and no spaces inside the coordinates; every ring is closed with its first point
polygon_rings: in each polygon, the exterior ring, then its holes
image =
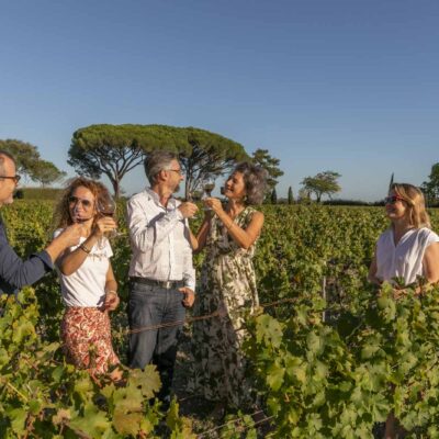
{"type": "Polygon", "coordinates": [[[111,342],[108,312],[97,307],[69,307],[61,322],[61,339],[67,360],[80,369],[102,374],[119,364],[111,342]]]}

